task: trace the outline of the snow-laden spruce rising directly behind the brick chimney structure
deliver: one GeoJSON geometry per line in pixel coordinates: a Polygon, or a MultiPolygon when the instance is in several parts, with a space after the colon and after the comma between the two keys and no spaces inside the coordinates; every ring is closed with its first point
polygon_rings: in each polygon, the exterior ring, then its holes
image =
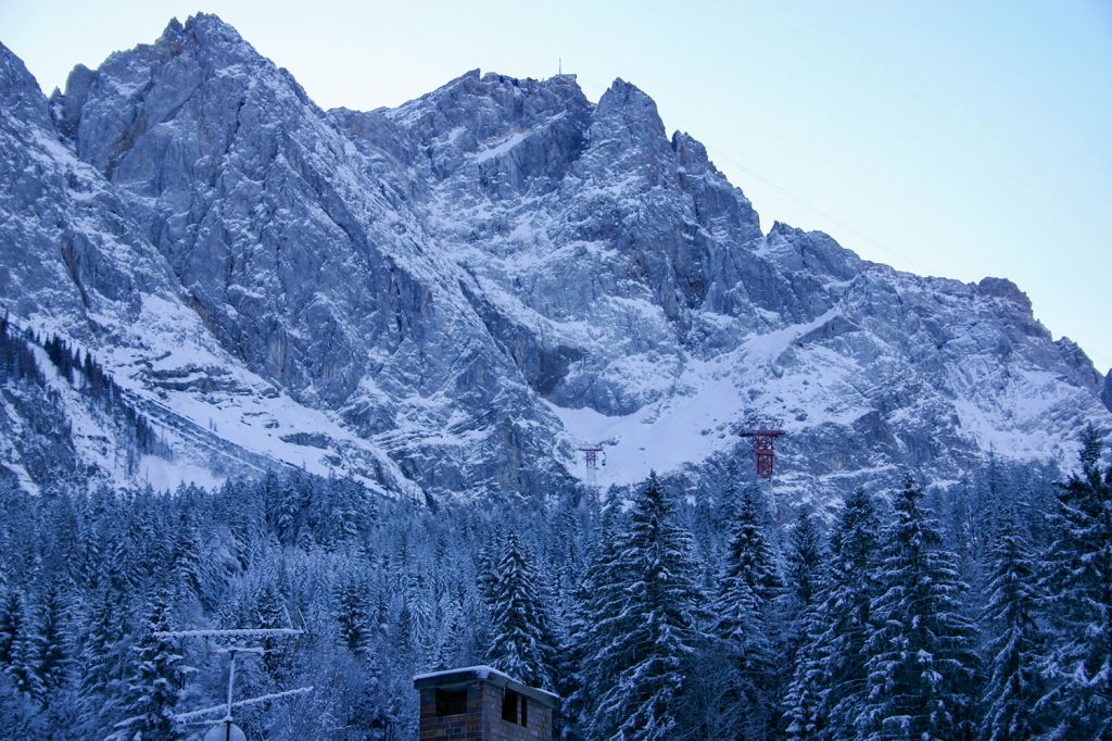
{"type": "Polygon", "coordinates": [[[532,554],[510,531],[492,585],[492,638],[486,659],[533,686],[555,688],[556,632],[532,554]]]}

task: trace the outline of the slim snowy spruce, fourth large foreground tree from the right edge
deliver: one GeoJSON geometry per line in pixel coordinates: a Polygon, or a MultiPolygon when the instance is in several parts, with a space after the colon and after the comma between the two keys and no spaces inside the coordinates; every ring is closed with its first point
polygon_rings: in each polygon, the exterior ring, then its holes
{"type": "Polygon", "coordinates": [[[822,683],[815,722],[827,738],[848,739],[856,733],[868,695],[866,643],[872,626],[872,603],[878,594],[880,518],[873,498],[863,490],[847,496],[830,542],[830,567],[816,622],[814,661],[822,683]]]}

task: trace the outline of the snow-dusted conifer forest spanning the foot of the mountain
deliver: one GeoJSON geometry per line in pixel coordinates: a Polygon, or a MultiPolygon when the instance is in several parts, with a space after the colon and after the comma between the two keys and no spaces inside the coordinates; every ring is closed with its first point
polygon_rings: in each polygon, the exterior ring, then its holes
{"type": "Polygon", "coordinates": [[[1112,467],[909,475],[831,516],[655,475],[437,507],[289,471],[216,491],[0,491],[6,739],[199,738],[226,661],[156,631],[298,628],[242,659],[250,738],[416,738],[415,673],[488,663],[563,739],[1112,734],[1112,467]]]}

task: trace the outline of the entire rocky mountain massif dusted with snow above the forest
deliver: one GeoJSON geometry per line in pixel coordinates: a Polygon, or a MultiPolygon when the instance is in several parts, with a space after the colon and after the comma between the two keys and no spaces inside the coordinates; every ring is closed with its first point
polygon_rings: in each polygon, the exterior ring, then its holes
{"type": "MultiPolygon", "coordinates": [[[[1069,462],[1112,428],[1112,383],[1012,283],[764,233],[623,80],[592,103],[573,76],[473,71],[324,111],[201,14],[49,100],[0,47],[0,303],[105,366],[165,442],[137,467],[158,485],[281,462],[535,493],[582,478],[585,443],[603,485],[697,483],[764,414],[778,486],[814,497],[990,451],[1069,462]]],[[[82,434],[71,457],[118,475],[82,434]]],[[[57,475],[26,448],[0,466],[57,475]]]]}

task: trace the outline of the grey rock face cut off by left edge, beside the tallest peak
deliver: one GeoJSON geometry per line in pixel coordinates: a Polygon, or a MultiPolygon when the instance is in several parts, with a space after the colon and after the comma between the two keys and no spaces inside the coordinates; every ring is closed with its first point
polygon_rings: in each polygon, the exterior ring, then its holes
{"type": "Polygon", "coordinates": [[[38,83],[3,46],[0,105],[4,308],[78,334],[91,320],[135,322],[143,294],[172,293],[172,274],[112,189],[60,140],[38,83]]]}

